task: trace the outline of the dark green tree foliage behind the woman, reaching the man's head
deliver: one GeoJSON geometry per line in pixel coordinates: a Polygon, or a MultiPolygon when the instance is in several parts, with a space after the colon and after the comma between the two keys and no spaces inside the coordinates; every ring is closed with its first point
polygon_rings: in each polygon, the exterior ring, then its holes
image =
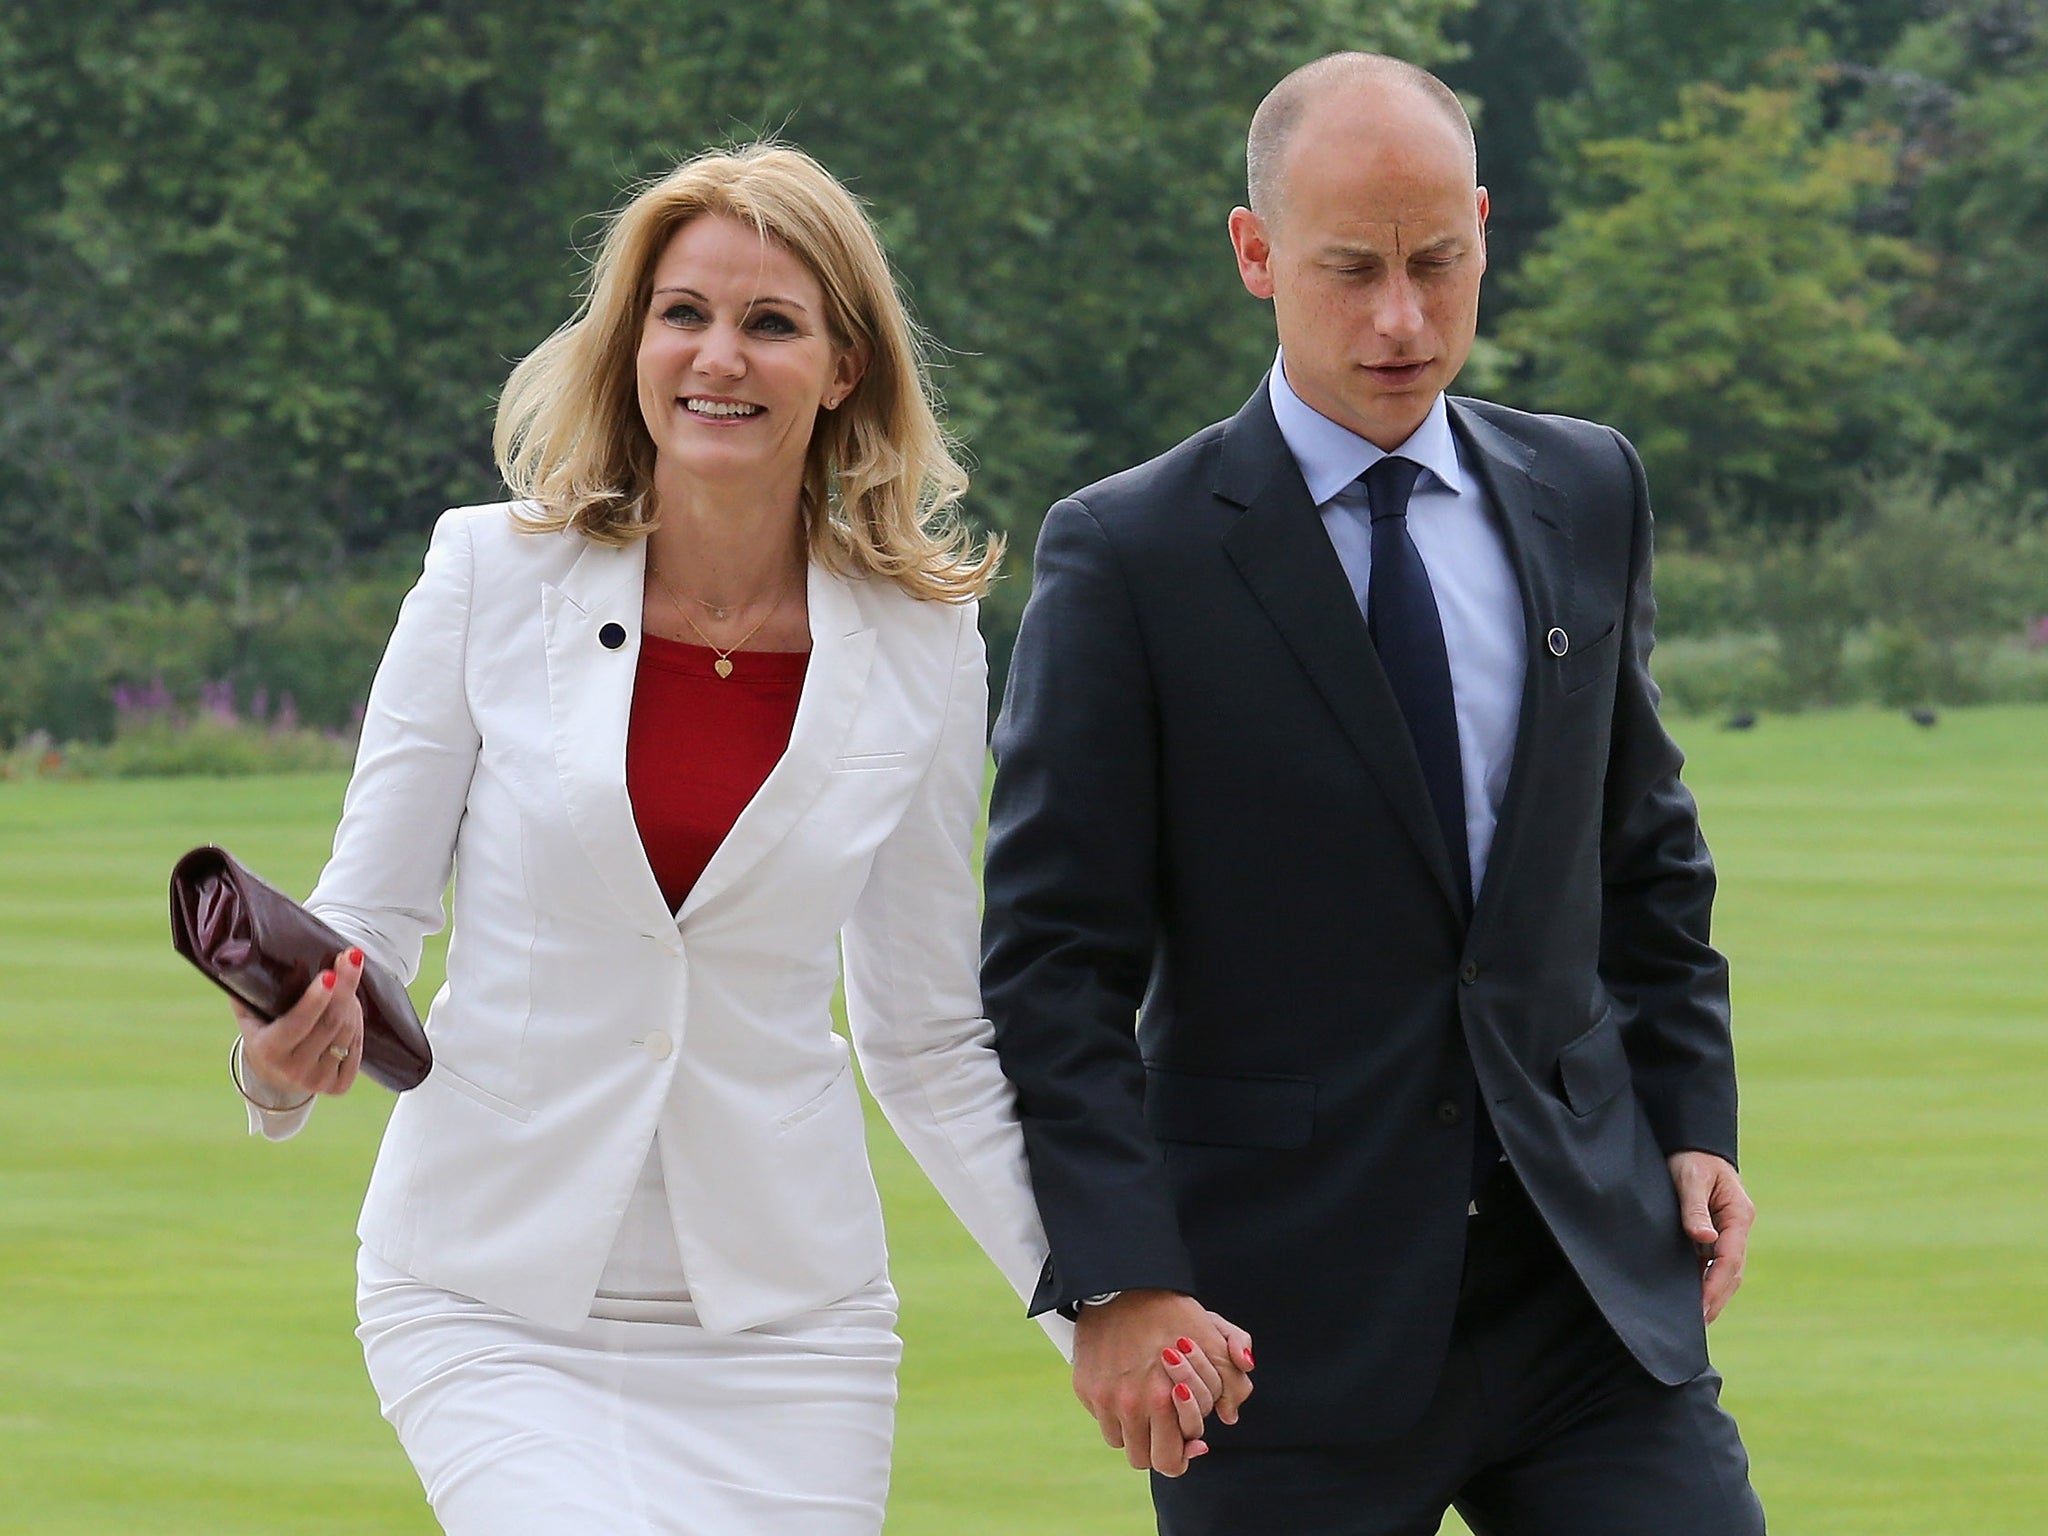
{"type": "Polygon", "coordinates": [[[623,182],[786,133],[866,195],[1028,553],[1272,346],[1223,217],[1260,94],[1466,0],[18,0],[0,10],[0,592],[244,606],[494,494],[508,358],[623,182]]]}

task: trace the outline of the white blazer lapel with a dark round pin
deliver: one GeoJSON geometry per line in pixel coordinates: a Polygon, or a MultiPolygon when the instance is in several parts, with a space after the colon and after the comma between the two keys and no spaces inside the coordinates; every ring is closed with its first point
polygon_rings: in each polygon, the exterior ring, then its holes
{"type": "Polygon", "coordinates": [[[627,797],[627,719],[639,668],[645,541],[584,543],[561,586],[541,592],[547,709],[569,825],[604,885],[639,926],[668,922],[627,797]],[[623,639],[606,647],[606,625],[623,639]]]}

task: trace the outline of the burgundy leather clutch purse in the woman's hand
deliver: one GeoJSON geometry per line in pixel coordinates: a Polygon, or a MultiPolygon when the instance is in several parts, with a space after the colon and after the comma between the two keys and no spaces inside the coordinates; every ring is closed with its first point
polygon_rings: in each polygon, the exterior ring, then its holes
{"type": "MultiPolygon", "coordinates": [[[[225,848],[195,848],[170,870],[170,942],[213,985],[276,1018],[352,944],[225,848]]],[[[403,1094],[434,1067],[426,1030],[397,977],[365,958],[362,1071],[403,1094]]]]}

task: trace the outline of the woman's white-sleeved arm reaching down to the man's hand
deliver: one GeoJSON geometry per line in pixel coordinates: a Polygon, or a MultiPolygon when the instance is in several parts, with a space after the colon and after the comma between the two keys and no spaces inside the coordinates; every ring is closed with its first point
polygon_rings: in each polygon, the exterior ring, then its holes
{"type": "MultiPolygon", "coordinates": [[[[973,604],[963,604],[938,752],[877,850],[842,936],[846,1018],[889,1124],[1018,1296],[1030,1298],[1044,1229],[977,981],[975,823],[987,711],[981,633],[973,604]]],[[[1053,1315],[1040,1323],[1071,1354],[1071,1325],[1053,1315]]]]}

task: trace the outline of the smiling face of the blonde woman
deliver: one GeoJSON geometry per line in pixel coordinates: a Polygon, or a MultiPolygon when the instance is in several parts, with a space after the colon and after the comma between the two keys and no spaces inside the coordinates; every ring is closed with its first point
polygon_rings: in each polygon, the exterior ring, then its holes
{"type": "Polygon", "coordinates": [[[817,426],[860,377],[811,270],[754,225],[707,213],[670,236],[637,356],[655,479],[795,487],[817,426]]]}

